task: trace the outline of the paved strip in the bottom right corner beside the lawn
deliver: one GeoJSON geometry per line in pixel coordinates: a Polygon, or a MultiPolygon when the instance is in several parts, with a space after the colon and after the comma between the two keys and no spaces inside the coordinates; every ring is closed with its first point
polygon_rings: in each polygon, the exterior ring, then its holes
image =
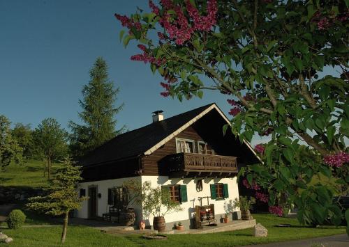
{"type": "Polygon", "coordinates": [[[327,237],[316,237],[313,239],[301,239],[293,241],[276,242],[269,244],[257,244],[246,247],[348,247],[349,238],[347,234],[338,234],[327,237]]]}

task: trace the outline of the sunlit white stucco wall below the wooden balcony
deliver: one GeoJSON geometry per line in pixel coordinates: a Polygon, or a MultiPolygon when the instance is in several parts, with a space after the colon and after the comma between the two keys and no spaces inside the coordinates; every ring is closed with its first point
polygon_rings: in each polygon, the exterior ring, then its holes
{"type": "MultiPolygon", "coordinates": [[[[188,196],[188,202],[181,203],[181,207],[183,208],[180,212],[174,212],[171,214],[165,215],[166,223],[178,222],[189,220],[193,218],[193,214],[195,212],[195,205],[200,205],[198,197],[211,197],[211,191],[209,184],[214,183],[223,183],[228,184],[228,192],[229,198],[225,198],[224,200],[211,200],[209,198],[209,204],[214,204],[215,214],[225,214],[224,211],[224,202],[229,202],[229,200],[234,200],[235,198],[239,198],[239,189],[237,187],[237,178],[205,178],[202,180],[202,191],[196,191],[196,182],[199,179],[193,178],[171,178],[169,179],[167,176],[142,176],[142,183],[146,181],[151,182],[151,186],[161,186],[168,184],[186,184],[186,191],[188,196]]],[[[207,198],[202,200],[202,205],[207,205],[207,198]]],[[[153,216],[149,217],[149,223],[152,225],[153,216]]]]}

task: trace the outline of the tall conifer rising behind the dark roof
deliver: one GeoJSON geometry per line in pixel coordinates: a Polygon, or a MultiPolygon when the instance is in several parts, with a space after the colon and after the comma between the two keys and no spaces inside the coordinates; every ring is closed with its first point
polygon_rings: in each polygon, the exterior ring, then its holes
{"type": "Polygon", "coordinates": [[[69,123],[73,132],[70,149],[75,157],[87,154],[124,130],[124,127],[115,129],[117,120],[114,115],[121,111],[124,104],[114,107],[119,88],[114,88],[114,83],[109,81],[107,63],[103,58],[96,59],[90,70],[90,78],[82,89],[82,100],[79,100],[82,107],[79,117],[84,125],[72,121],[69,123]]]}

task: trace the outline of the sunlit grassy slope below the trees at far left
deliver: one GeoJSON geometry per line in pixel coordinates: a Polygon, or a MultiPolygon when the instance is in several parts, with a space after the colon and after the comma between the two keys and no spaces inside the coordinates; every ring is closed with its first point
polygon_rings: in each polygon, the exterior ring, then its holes
{"type": "MultiPolygon", "coordinates": [[[[52,174],[58,164],[52,164],[52,174]]],[[[10,164],[0,171],[0,186],[22,186],[34,189],[47,186],[47,177],[43,177],[43,161],[24,161],[24,164],[10,164]]],[[[47,175],[46,175],[47,176],[47,175]]]]}

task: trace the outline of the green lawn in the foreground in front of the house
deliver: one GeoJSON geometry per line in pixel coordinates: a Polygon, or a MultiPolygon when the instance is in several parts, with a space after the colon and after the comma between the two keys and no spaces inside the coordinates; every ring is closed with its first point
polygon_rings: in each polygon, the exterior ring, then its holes
{"type": "MultiPolygon", "coordinates": [[[[309,228],[299,225],[295,218],[280,218],[270,214],[255,214],[253,216],[258,223],[268,229],[268,237],[253,237],[253,228],[250,228],[211,234],[168,235],[167,241],[156,241],[142,239],[139,234],[112,235],[81,225],[70,225],[65,246],[241,246],[322,237],[346,232],[344,227],[309,228]],[[292,227],[276,227],[281,223],[290,223],[292,227]]],[[[61,227],[58,226],[21,228],[19,230],[3,230],[3,232],[13,237],[14,241],[10,246],[60,246],[61,227]]]]}

